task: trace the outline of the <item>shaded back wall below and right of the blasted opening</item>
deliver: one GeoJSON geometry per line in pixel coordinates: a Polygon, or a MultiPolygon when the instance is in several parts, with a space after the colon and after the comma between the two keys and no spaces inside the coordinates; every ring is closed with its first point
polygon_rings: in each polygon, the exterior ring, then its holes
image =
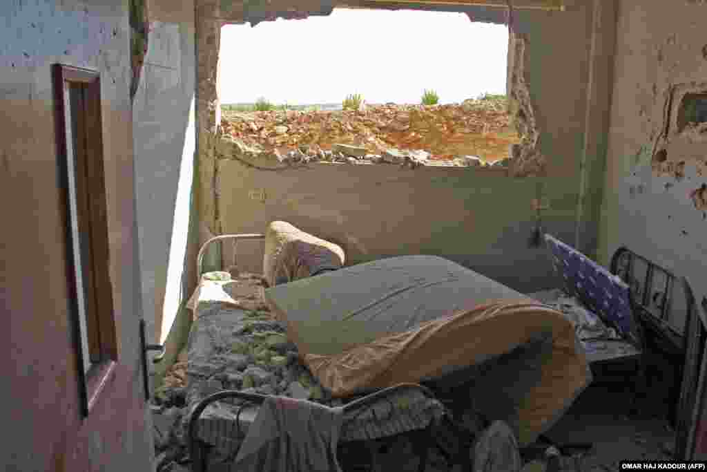
{"type": "MultiPolygon", "coordinates": [[[[574,243],[580,162],[604,157],[601,149],[585,149],[588,116],[596,121],[588,115],[587,100],[595,8],[580,2],[568,6],[565,12],[517,11],[516,18],[517,32],[527,42],[523,69],[547,177],[510,178],[459,168],[401,171],[382,165],[316,164],[307,170],[257,171],[228,156],[214,159],[200,151],[200,165],[214,168],[199,184],[200,198],[216,202],[209,208],[211,228],[261,232],[268,221],[285,219],[341,243],[349,263],[428,253],[521,291],[553,286],[547,253],[527,247],[535,224],[531,200],[547,197],[551,208],[543,214],[544,229],[574,243]],[[267,195],[265,202],[250,200],[250,192],[260,190],[267,195]]],[[[601,64],[597,67],[595,74],[607,72],[601,64]]],[[[200,81],[200,87],[204,84],[200,81]]],[[[262,250],[246,244],[243,248],[251,270],[262,270],[262,250]]]]}

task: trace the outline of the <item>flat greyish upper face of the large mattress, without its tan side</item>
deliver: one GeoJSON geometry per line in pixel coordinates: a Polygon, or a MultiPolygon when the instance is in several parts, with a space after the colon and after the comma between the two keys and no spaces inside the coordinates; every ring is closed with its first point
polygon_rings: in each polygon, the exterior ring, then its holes
{"type": "Polygon", "coordinates": [[[344,267],[265,290],[303,355],[334,355],[462,309],[532,301],[451,260],[407,255],[344,267]]]}

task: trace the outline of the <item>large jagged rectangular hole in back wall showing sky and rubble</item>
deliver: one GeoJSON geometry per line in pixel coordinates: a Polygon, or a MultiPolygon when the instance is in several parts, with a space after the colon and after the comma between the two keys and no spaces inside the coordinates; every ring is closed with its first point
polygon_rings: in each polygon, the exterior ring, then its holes
{"type": "Polygon", "coordinates": [[[279,161],[506,167],[514,151],[522,156],[513,145],[534,132],[522,93],[517,114],[508,113],[508,28],[462,13],[337,8],[325,18],[225,25],[220,54],[223,134],[279,161]],[[363,24],[406,40],[361,35],[363,24]],[[468,60],[450,48],[461,42],[478,45],[468,60]]]}

